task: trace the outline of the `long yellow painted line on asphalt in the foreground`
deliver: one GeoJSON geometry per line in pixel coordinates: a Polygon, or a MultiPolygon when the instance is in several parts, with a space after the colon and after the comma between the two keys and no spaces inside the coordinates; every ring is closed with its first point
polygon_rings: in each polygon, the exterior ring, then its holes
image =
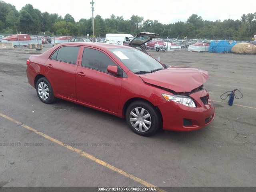
{"type": "Polygon", "coordinates": [[[116,167],[114,167],[114,166],[112,166],[112,165],[110,165],[110,164],[108,164],[108,163],[106,163],[106,162],[104,162],[104,161],[102,161],[102,160],[100,160],[100,159],[98,159],[98,158],[96,158],[96,157],[94,157],[94,156],[92,156],[92,155],[90,155],[90,154],[80,150],[80,149],[74,148],[72,146],[66,146],[61,141],[56,140],[56,139],[54,139],[54,138],[52,138],[52,137],[50,137],[50,136],[48,136],[48,135],[38,131],[38,130],[35,130],[35,129],[31,128],[30,126],[22,124],[21,122],[18,122],[16,120],[14,120],[14,119],[12,119],[12,118],[2,114],[2,113],[0,113],[0,116],[2,116],[3,118],[6,118],[6,119],[8,119],[8,120],[10,120],[10,121],[12,121],[12,122],[14,122],[16,124],[20,124],[20,126],[26,128],[26,129],[28,129],[28,130],[30,130],[30,131],[32,131],[32,132],[34,132],[34,133],[36,133],[36,134],[38,134],[40,136],[43,136],[44,138],[46,138],[46,139],[48,139],[48,140],[50,140],[52,142],[55,142],[55,143],[59,144],[62,147],[68,148],[69,150],[72,150],[72,151],[74,151],[74,152],[76,152],[76,153],[78,153],[78,154],[80,154],[80,155],[82,155],[82,156],[84,156],[84,157],[94,161],[94,162],[97,162],[98,164],[101,164],[102,166],[104,166],[106,168],[109,168],[109,169],[111,169],[111,170],[113,170],[115,172],[118,172],[118,173],[122,174],[123,176],[126,176],[126,177],[128,177],[128,178],[130,178],[130,179],[132,179],[132,180],[134,180],[134,181],[136,181],[136,182],[146,186],[146,187],[153,187],[153,188],[156,188],[156,190],[159,191],[159,192],[166,192],[165,190],[162,190],[162,189],[160,189],[160,188],[158,188],[158,187],[156,187],[156,186],[154,186],[154,185],[152,185],[152,184],[150,184],[150,183],[148,183],[148,182],[146,182],[146,181],[144,181],[144,180],[142,180],[142,179],[140,179],[140,178],[138,178],[136,176],[133,176],[133,175],[131,175],[131,174],[121,170],[121,169],[118,169],[118,168],[116,168],[116,167]]]}

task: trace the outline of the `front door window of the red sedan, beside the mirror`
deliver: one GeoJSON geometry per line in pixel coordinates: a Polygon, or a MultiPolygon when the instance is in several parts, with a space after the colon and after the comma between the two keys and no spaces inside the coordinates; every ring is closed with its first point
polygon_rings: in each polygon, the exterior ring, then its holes
{"type": "Polygon", "coordinates": [[[82,66],[107,72],[109,65],[116,66],[106,54],[95,49],[84,48],[82,66]]]}

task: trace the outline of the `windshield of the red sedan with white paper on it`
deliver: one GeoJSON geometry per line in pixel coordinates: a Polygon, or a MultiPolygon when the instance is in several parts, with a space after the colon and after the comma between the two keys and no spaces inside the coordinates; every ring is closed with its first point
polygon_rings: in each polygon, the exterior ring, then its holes
{"type": "Polygon", "coordinates": [[[164,67],[151,56],[135,48],[114,48],[110,49],[117,58],[132,72],[136,74],[146,74],[164,67]]]}

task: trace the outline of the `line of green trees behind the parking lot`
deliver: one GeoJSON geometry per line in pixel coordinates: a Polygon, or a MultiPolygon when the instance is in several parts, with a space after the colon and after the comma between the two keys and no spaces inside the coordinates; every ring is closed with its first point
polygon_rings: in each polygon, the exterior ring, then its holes
{"type": "MultiPolygon", "coordinates": [[[[0,33],[56,36],[92,36],[92,18],[82,18],[75,22],[70,14],[64,18],[56,13],[49,14],[34,9],[26,4],[20,11],[12,4],[0,1],[0,33]]],[[[94,18],[95,37],[104,37],[107,33],[126,33],[135,36],[139,32],[157,33],[161,38],[196,38],[196,39],[229,39],[252,40],[256,35],[256,12],[243,14],[240,20],[203,20],[201,16],[192,14],[186,22],[162,24],[158,20],[145,20],[138,15],[132,15],[130,20],[123,16],[112,14],[110,18],[102,19],[100,15],[94,18]]]]}

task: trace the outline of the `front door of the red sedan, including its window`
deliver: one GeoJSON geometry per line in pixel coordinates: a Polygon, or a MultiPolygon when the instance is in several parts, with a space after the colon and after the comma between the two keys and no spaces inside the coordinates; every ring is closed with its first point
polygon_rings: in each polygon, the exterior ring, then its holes
{"type": "Polygon", "coordinates": [[[110,112],[117,113],[122,77],[107,72],[116,64],[100,50],[84,48],[82,65],[76,70],[77,100],[110,112]]]}

